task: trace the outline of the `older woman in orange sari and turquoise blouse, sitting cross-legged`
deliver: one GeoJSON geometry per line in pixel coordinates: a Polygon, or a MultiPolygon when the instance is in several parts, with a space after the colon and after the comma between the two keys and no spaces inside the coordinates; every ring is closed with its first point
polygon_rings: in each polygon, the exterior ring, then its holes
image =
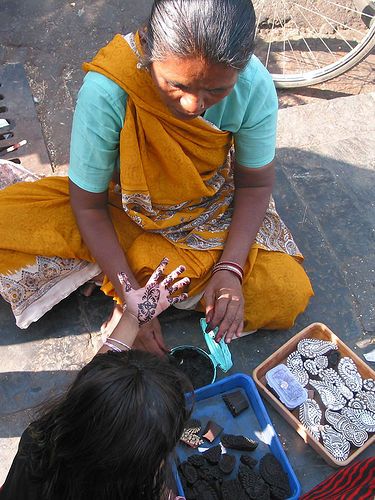
{"type": "MultiPolygon", "coordinates": [[[[217,340],[293,325],[313,292],[271,197],[277,97],[255,30],[250,0],[155,0],[84,65],[69,184],[0,195],[0,293],[19,326],[100,272],[121,303],[118,272],[137,288],[163,255],[217,340]]],[[[165,352],[157,319],[137,346],[165,352]]]]}

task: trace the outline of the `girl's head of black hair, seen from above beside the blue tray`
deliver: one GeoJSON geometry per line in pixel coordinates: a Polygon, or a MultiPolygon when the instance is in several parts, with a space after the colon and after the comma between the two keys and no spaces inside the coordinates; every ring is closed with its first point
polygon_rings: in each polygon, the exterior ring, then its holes
{"type": "Polygon", "coordinates": [[[188,417],[186,389],[179,371],[149,353],[96,356],[31,426],[33,469],[50,498],[160,498],[188,417]]]}

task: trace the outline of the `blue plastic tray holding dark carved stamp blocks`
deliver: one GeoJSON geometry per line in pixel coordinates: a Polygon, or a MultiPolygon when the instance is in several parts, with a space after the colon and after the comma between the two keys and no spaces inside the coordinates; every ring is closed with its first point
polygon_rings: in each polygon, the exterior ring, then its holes
{"type": "MultiPolygon", "coordinates": [[[[214,420],[224,427],[223,432],[227,434],[242,434],[259,441],[256,450],[250,452],[251,456],[260,460],[266,453],[273,453],[282,464],[284,471],[288,474],[291,491],[289,499],[297,500],[299,498],[301,486],[281,446],[267,410],[251,377],[242,373],[237,373],[195,391],[195,404],[192,417],[199,419],[202,425],[205,425],[208,420],[214,420]],[[250,402],[249,409],[235,418],[233,418],[221,397],[222,394],[234,390],[244,391],[250,402]]],[[[216,446],[219,442],[220,436],[217,437],[213,443],[204,444],[202,447],[209,448],[216,446]]],[[[189,455],[193,455],[197,452],[198,450],[191,449],[182,444],[179,444],[176,450],[180,462],[184,462],[189,455]]],[[[236,450],[228,450],[228,452],[236,455],[238,464],[239,457],[243,452],[236,450]]],[[[233,472],[228,478],[232,479],[235,475],[236,473],[233,472]]],[[[177,470],[176,483],[179,495],[183,496],[184,490],[177,470]]]]}

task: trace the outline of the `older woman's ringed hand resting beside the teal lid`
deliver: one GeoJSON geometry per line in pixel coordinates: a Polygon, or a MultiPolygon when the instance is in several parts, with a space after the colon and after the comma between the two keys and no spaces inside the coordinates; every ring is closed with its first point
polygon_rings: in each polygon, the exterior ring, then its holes
{"type": "Polygon", "coordinates": [[[204,293],[206,321],[210,330],[217,326],[216,342],[225,335],[230,343],[243,330],[244,298],[238,277],[230,271],[219,271],[212,275],[204,293]]]}

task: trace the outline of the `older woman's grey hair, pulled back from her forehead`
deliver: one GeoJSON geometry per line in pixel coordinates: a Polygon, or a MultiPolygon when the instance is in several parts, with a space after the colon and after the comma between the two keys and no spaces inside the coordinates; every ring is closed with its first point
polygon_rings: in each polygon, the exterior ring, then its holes
{"type": "Polygon", "coordinates": [[[142,33],[143,66],[173,55],[242,70],[254,48],[251,0],[154,0],[142,33]]]}

